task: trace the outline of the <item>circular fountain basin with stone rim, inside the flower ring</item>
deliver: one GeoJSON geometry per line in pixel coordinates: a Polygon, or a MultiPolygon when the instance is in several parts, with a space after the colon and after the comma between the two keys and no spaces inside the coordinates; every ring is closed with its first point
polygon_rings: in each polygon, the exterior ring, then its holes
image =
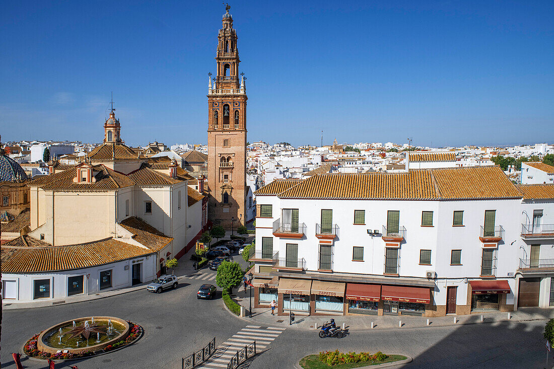
{"type": "Polygon", "coordinates": [[[98,351],[104,349],[108,345],[113,345],[116,342],[125,340],[129,336],[130,327],[129,323],[123,319],[119,319],[112,316],[89,316],[79,319],[71,319],[61,322],[57,325],[49,327],[44,330],[37,339],[37,348],[40,351],[46,351],[50,353],[56,353],[63,351],[69,353],[83,353],[89,351],[98,351]],[[68,332],[73,330],[73,322],[75,326],[83,325],[85,321],[88,321],[90,325],[94,324],[100,327],[100,340],[98,340],[97,332],[90,332],[89,339],[86,340],[83,336],[79,335],[70,338],[71,334],[68,332]],[[113,329],[108,332],[108,322],[111,322],[113,329]],[[61,344],[60,344],[60,328],[61,328],[61,344]]]}

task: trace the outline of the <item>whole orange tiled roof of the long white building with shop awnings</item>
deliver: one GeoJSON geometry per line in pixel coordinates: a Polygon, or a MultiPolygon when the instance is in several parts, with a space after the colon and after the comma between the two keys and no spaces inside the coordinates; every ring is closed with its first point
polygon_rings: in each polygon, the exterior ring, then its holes
{"type": "MultiPolygon", "coordinates": [[[[273,182],[268,186],[271,184],[273,182]]],[[[276,191],[267,192],[262,194],[275,194],[276,191]]],[[[329,173],[312,176],[294,187],[277,193],[280,198],[328,199],[439,200],[522,197],[497,166],[412,170],[403,173],[329,173]]]]}

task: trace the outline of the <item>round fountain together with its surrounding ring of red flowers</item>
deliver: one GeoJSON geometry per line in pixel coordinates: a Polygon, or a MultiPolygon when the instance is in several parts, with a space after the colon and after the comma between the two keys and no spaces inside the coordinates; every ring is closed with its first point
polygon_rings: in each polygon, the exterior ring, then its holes
{"type": "Polygon", "coordinates": [[[32,357],[67,360],[119,349],[142,335],[142,327],[110,316],[68,320],[34,335],[23,347],[32,357]]]}

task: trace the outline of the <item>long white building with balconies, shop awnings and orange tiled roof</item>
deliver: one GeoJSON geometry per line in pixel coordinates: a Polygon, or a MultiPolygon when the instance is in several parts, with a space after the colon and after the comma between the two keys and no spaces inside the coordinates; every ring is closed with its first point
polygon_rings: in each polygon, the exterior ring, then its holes
{"type": "Polygon", "coordinates": [[[497,166],[276,180],[255,192],[255,306],[443,316],[554,305],[554,186],[528,187],[497,166]]]}

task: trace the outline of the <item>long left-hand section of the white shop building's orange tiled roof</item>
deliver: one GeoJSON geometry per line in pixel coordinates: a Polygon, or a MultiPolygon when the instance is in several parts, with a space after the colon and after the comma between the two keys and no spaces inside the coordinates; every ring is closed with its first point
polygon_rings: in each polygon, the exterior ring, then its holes
{"type": "Polygon", "coordinates": [[[438,199],[429,171],[335,173],[312,176],[280,198],[438,199]]]}

